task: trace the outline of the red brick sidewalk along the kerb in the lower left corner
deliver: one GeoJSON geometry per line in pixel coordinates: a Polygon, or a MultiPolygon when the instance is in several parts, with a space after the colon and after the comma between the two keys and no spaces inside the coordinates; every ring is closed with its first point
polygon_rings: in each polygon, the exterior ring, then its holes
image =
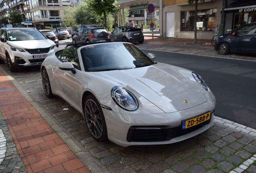
{"type": "Polygon", "coordinates": [[[12,139],[1,120],[0,129],[4,129],[8,140],[0,172],[90,172],[2,71],[0,93],[0,117],[4,118],[19,152],[11,145],[12,139]]]}

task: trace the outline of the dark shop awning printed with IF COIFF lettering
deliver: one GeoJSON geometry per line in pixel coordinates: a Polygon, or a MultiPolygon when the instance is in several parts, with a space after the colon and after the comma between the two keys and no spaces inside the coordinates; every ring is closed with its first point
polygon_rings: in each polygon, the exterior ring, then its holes
{"type": "Polygon", "coordinates": [[[225,13],[256,11],[255,0],[233,0],[225,9],[225,13]]]}

